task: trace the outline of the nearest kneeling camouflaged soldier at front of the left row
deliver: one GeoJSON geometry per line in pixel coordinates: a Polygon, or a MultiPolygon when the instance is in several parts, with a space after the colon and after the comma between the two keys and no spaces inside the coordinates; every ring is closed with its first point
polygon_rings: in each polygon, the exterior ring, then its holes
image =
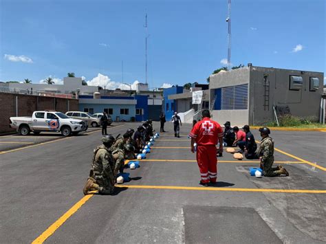
{"type": "Polygon", "coordinates": [[[111,194],[114,190],[115,177],[113,175],[114,159],[109,148],[114,142],[112,135],[102,137],[103,144],[94,149],[89,177],[83,189],[84,195],[90,190],[98,190],[102,195],[111,194]]]}

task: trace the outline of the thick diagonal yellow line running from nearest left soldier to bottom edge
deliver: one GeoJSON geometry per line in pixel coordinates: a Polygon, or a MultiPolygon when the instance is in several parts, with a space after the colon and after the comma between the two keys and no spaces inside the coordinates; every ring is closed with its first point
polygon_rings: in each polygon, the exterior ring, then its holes
{"type": "Polygon", "coordinates": [[[52,234],[58,230],[58,228],[60,228],[61,225],[63,225],[63,223],[65,223],[65,221],[67,221],[67,219],[69,219],[70,217],[72,217],[72,214],[74,214],[75,212],[77,212],[77,210],[83,206],[89,199],[91,199],[91,197],[93,197],[94,195],[86,195],[85,197],[83,197],[82,199],[80,199],[74,206],[72,206],[72,208],[70,208],[67,212],[65,212],[65,214],[63,214],[63,216],[61,216],[57,221],[55,221],[54,223],[52,223],[52,225],[50,225],[49,228],[47,228],[47,230],[45,230],[45,232],[43,232],[39,237],[37,237],[32,244],[36,244],[36,243],[43,243],[47,238],[49,238],[50,236],[52,236],[52,234]]]}

